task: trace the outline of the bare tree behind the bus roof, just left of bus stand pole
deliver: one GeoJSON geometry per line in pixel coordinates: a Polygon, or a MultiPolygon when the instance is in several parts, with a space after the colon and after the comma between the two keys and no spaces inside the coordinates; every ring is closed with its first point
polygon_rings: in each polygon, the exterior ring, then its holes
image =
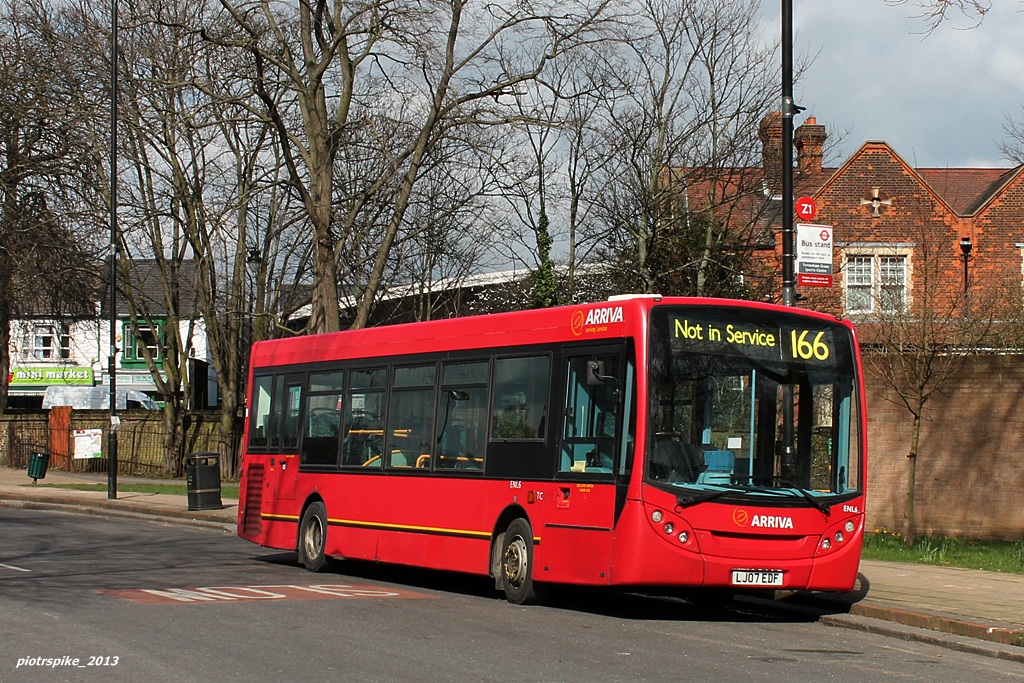
{"type": "MultiPolygon", "coordinates": [[[[759,42],[757,3],[748,0],[639,8],[603,75],[610,95],[599,118],[608,160],[595,200],[601,239],[622,265],[623,288],[654,292],[670,270],[689,269],[687,293],[708,294],[714,266],[740,241],[722,208],[752,188],[727,191],[726,179],[753,165],[758,125],[776,98],[774,50],[759,42]],[[706,188],[695,202],[705,215],[687,209],[666,220],[673,194],[689,197],[696,186],[706,188]]],[[[737,270],[724,272],[736,281],[737,270]]]]}

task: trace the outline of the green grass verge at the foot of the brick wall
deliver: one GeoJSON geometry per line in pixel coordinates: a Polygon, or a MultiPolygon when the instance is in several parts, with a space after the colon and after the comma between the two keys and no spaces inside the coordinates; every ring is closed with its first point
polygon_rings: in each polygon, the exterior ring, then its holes
{"type": "Polygon", "coordinates": [[[1024,539],[977,541],[919,537],[912,546],[903,537],[877,531],[864,537],[863,558],[1024,574],[1024,539]]]}

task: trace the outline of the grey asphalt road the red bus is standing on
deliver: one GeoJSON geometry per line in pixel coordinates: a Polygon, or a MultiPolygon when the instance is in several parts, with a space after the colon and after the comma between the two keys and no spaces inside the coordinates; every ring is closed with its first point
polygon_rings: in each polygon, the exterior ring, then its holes
{"type": "Polygon", "coordinates": [[[1024,666],[742,605],[342,563],[161,522],[0,509],[2,681],[1024,681],[1024,666]]]}

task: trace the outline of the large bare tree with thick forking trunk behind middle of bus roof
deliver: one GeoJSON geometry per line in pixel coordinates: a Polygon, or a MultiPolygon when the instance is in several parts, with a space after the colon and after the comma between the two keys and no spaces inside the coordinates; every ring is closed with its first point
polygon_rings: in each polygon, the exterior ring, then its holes
{"type": "Polygon", "coordinates": [[[338,261],[374,220],[380,237],[352,322],[366,325],[434,146],[455,128],[501,118],[489,102],[536,79],[603,11],[601,2],[508,3],[470,11],[462,1],[380,0],[300,3],[296,15],[259,2],[221,3],[236,30],[208,27],[204,35],[252,55],[254,89],[309,216],[313,331],[340,327],[338,261]],[[271,97],[279,86],[292,97],[271,97]],[[339,187],[335,165],[342,150],[374,138],[396,112],[408,117],[407,135],[398,138],[404,142],[373,174],[339,187]],[[386,213],[379,208],[382,195],[389,200],[386,213]],[[344,212],[336,210],[339,198],[344,212]]]}

